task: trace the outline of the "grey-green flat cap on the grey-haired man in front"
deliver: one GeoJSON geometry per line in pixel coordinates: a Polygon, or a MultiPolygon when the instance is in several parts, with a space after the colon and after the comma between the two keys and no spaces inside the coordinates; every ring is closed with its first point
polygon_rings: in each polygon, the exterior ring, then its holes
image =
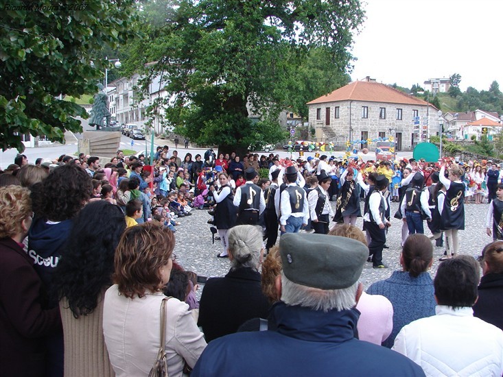
{"type": "Polygon", "coordinates": [[[285,233],[279,253],[288,280],[318,289],[344,289],[358,282],[369,248],[346,237],[285,233]]]}

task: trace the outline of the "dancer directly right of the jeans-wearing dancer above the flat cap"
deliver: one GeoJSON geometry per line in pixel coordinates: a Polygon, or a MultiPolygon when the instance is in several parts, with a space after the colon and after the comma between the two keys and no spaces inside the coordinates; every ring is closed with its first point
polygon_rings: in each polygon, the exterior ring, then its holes
{"type": "Polygon", "coordinates": [[[329,223],[334,211],[330,206],[330,195],[328,193],[331,178],[322,171],[318,175],[318,187],[312,190],[307,196],[309,202],[309,214],[311,215],[311,225],[315,233],[327,234],[329,223]]]}

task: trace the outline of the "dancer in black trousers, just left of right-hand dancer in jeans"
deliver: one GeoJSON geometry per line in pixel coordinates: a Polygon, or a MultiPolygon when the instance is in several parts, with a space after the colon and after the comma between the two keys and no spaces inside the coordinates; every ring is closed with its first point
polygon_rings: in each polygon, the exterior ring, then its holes
{"type": "Polygon", "coordinates": [[[386,268],[382,263],[382,250],[386,243],[386,227],[391,223],[386,220],[386,200],[383,193],[388,189],[389,181],[384,175],[377,175],[375,189],[369,195],[369,206],[364,213],[364,224],[371,238],[369,254],[372,256],[373,268],[386,268]]]}

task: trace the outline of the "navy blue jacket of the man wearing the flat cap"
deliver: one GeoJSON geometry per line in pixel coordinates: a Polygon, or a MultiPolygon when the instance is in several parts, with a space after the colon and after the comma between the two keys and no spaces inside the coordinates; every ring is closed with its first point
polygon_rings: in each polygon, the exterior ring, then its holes
{"type": "Polygon", "coordinates": [[[280,302],[274,317],[277,331],[209,343],[191,376],[424,376],[406,356],[355,339],[355,309],[324,313],[280,302]]]}

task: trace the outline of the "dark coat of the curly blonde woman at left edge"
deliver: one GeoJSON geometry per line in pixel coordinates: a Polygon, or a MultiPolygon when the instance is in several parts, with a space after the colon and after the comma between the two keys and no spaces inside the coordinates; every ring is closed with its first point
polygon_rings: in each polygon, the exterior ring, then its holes
{"type": "Polygon", "coordinates": [[[45,376],[45,337],[62,333],[59,308],[45,310],[32,262],[18,243],[0,240],[1,376],[45,376]]]}

